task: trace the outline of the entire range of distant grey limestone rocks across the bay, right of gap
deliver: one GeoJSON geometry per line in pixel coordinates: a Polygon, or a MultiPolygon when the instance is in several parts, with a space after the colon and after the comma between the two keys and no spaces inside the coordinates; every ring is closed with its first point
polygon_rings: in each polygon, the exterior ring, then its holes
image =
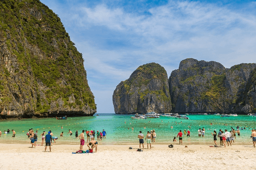
{"type": "Polygon", "coordinates": [[[116,114],[256,112],[256,63],[228,69],[188,58],[169,80],[162,66],[148,63],[116,86],[113,106],[116,114]]]}

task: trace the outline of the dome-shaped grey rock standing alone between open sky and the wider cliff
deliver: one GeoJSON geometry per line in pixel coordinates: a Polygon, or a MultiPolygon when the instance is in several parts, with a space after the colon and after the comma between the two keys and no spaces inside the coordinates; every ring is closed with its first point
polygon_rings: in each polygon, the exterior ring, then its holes
{"type": "Polygon", "coordinates": [[[172,109],[166,70],[157,63],[138,67],[113,92],[115,113],[166,113],[172,109]]]}

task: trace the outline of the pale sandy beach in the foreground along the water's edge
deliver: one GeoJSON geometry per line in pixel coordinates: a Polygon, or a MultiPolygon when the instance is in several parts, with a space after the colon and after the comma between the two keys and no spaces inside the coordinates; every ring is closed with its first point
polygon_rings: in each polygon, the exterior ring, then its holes
{"type": "MultiPolygon", "coordinates": [[[[256,148],[252,144],[227,148],[178,144],[173,148],[152,146],[151,150],[137,152],[138,144],[98,145],[97,153],[72,154],[79,150],[79,145],[55,144],[52,152],[45,153],[44,146],[29,148],[30,144],[0,144],[0,170],[31,170],[32,167],[35,170],[256,169],[256,148]],[[129,147],[134,149],[129,150],[129,147]]],[[[83,150],[87,150],[87,146],[83,150]]]]}

